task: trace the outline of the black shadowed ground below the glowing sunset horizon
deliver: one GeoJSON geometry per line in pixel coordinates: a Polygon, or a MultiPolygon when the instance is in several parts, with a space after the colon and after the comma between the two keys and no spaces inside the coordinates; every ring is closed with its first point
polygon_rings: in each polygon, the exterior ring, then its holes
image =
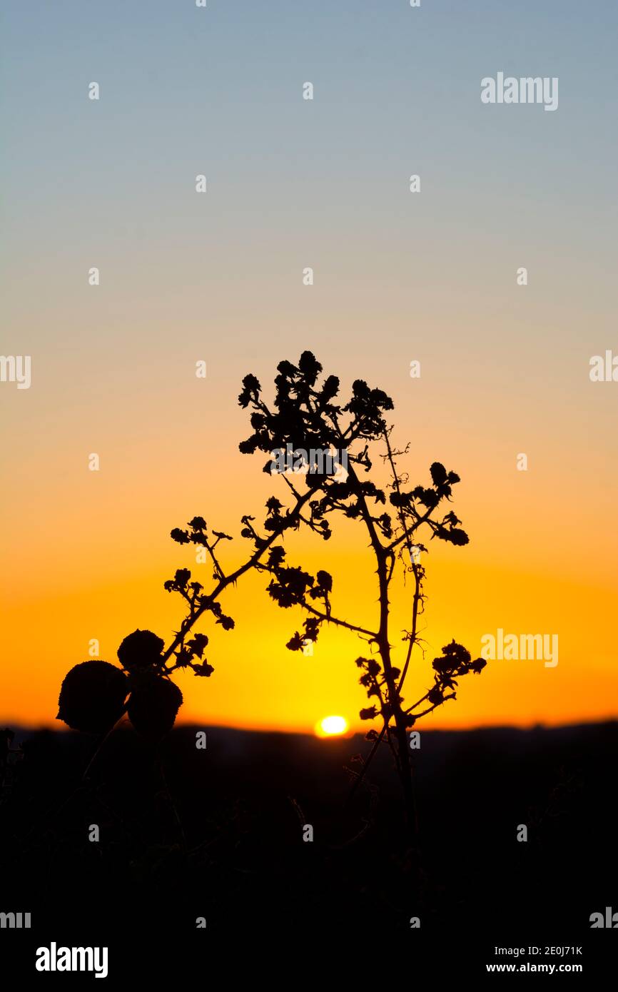
{"type": "Polygon", "coordinates": [[[590,969],[618,943],[618,929],[589,923],[618,911],[618,724],[422,732],[416,851],[388,749],[348,801],[363,738],[207,728],[199,750],[197,729],[149,745],[119,728],[85,778],[95,738],[16,733],[0,911],[30,912],[32,930],[0,931],[5,959],[7,948],[19,957],[19,941],[107,941],[111,968],[114,947],[137,953],[138,934],[164,956],[174,935],[190,956],[204,941],[256,934],[395,931],[414,953],[452,948],[442,965],[454,958],[466,974],[496,959],[496,943],[583,944],[590,969]]]}

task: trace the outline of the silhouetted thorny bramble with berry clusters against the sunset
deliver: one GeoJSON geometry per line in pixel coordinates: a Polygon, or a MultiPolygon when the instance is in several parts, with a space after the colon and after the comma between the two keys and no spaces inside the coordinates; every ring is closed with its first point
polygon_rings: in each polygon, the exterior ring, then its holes
{"type": "Polygon", "coordinates": [[[415,646],[421,646],[419,619],[425,604],[426,572],[420,552],[427,552],[427,547],[419,543],[418,535],[423,532],[456,547],[468,543],[453,511],[439,512],[444,503],[450,502],[459,476],[434,461],[430,466],[431,484],[410,488],[407,473],[398,468],[398,460],[408,454],[409,445],[403,450],[393,447],[393,429],[385,418],[393,410],[390,397],[357,379],[352,384],[351,398],[341,406],[336,402],[338,378],[330,375],[318,381],[321,371],[309,351],[301,355],[298,365],[281,362],[272,407],[263,399],[256,377],[245,376],[238,402],[243,409],[251,410],[253,433],[241,442],[240,451],[269,455],[264,471],[280,474],[288,489],[289,505],[272,496],[266,503],[261,526],[255,517],[241,518],[240,536],[249,542],[251,552],[240,567],[229,572],[220,560],[220,546],[232,540],[229,535],[209,531],[203,517],[193,517],[186,528],[175,528],[171,534],[174,541],[199,546],[209,556],[213,583],[210,590],[191,581],[187,568],[179,568],[174,578],[166,581],[165,588],[182,596],[186,615],[169,647],[164,650],[164,642],[150,631],[137,630],[124,639],[118,650],[121,669],[102,661],[75,666],[62,682],[59,718],[78,730],[104,732],[126,713],[136,730],[146,736],[156,739],[165,734],[174,725],[183,701],[171,675],[186,668],[206,678],[213,672],[203,657],[208,638],[202,633],[189,635],[206,614],[224,630],[231,630],[234,621],[223,612],[220,597],[245,572],[255,569],[270,577],[267,591],[279,606],[298,606],[307,614],[303,631],[295,631],[287,643],[291,651],[301,651],[307,642],[315,642],[323,624],[345,628],[365,640],[366,652],[356,659],[356,665],[361,670],[359,681],[367,691],[369,705],[361,709],[360,717],[379,720],[380,729],[372,728],[367,734],[374,746],[356,785],[385,740],[400,778],[407,818],[414,827],[408,732],[419,717],[455,698],[459,679],[471,672],[479,674],[486,665],[481,658],[472,661],[469,652],[452,641],[442,648],[439,658],[433,659],[431,688],[412,705],[404,700],[403,687],[412,653],[415,646]],[[371,479],[371,459],[375,458],[374,447],[378,444],[378,456],[389,477],[386,489],[371,479]],[[346,471],[333,474],[313,456],[314,452],[332,449],[346,452],[346,471]],[[294,481],[288,474],[278,473],[273,460],[277,452],[290,450],[311,452],[309,462],[302,459],[306,461],[305,471],[293,473],[294,481]],[[331,606],[332,576],[325,570],[311,575],[291,564],[282,543],[287,532],[302,527],[327,541],[337,514],[358,521],[369,537],[378,584],[378,615],[373,627],[337,617],[331,606]],[[392,659],[389,629],[389,592],[398,563],[400,573],[403,570],[406,577],[411,577],[411,591],[407,592],[411,623],[404,635],[406,649],[401,668],[392,659]]]}

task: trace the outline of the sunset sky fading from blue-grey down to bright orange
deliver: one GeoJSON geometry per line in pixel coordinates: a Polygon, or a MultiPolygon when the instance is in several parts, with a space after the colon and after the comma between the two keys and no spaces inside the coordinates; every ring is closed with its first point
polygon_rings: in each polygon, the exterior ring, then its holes
{"type": "MultiPolygon", "coordinates": [[[[173,527],[199,514],[240,560],[240,516],[284,490],[238,452],[240,382],[272,395],[305,349],[343,395],[393,397],[415,482],[436,459],[461,476],[470,544],[427,557],[411,698],[453,637],[473,657],[498,629],[559,637],[555,668],[496,660],[425,725],[615,716],[618,384],[589,378],[618,354],[615,4],[8,0],[1,29],[0,351],[32,383],[0,382],[0,719],[54,724],[93,638],[107,661],[136,628],[169,643],[164,580],[209,574],[173,527]],[[556,111],[483,104],[499,71],[557,77],[556,111]]],[[[290,557],[333,574],[340,615],[375,611],[358,530],[290,557]]],[[[229,592],[183,718],[358,726],[362,642],[290,653],[302,617],[265,584],[229,592]]]]}

